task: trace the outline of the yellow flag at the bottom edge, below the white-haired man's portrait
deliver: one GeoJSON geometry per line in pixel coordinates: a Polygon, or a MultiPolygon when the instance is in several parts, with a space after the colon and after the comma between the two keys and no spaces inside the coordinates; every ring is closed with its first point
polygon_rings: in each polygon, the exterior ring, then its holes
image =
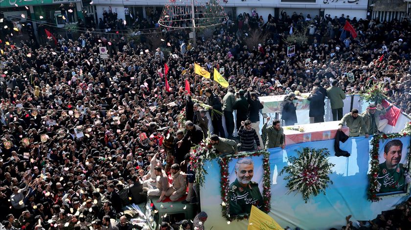
{"type": "Polygon", "coordinates": [[[264,213],[255,206],[251,206],[251,214],[249,226],[247,230],[284,230],[281,226],[268,214],[264,213]]]}

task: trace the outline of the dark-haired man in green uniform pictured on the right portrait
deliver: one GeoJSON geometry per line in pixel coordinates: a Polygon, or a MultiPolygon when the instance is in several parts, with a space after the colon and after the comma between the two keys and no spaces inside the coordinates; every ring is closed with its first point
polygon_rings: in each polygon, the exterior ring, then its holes
{"type": "Polygon", "coordinates": [[[381,184],[379,193],[402,191],[406,186],[404,172],[406,167],[400,164],[403,143],[400,140],[389,141],[384,146],[386,161],[379,165],[377,181],[381,184]]]}

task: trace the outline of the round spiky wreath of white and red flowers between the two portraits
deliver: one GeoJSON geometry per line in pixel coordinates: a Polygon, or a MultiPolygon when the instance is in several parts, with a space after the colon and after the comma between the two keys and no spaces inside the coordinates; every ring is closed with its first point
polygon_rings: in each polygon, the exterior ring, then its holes
{"type": "Polygon", "coordinates": [[[333,183],[328,175],[332,173],[331,168],[334,164],[328,162],[327,157],[330,153],[326,148],[305,147],[297,153],[298,157],[288,158],[288,166],[284,167],[279,175],[288,173],[284,177],[284,180],[288,180],[287,193],[299,191],[307,203],[312,196],[317,196],[321,192],[325,195],[328,183],[333,183]]]}

